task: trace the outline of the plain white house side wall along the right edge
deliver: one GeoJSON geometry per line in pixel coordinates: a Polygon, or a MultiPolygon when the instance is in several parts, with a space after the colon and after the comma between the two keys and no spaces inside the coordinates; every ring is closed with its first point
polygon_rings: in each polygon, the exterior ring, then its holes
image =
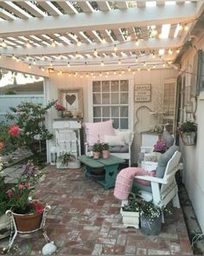
{"type": "MultiPolygon", "coordinates": [[[[204,40],[195,44],[196,49],[204,49],[204,40]]],[[[182,58],[182,70],[193,65],[195,49],[188,50],[182,58]]],[[[198,123],[197,142],[194,146],[184,146],[181,141],[182,158],[184,163],[183,181],[188,190],[189,198],[193,204],[194,211],[204,232],[204,92],[198,96],[196,121],[198,123]]]]}

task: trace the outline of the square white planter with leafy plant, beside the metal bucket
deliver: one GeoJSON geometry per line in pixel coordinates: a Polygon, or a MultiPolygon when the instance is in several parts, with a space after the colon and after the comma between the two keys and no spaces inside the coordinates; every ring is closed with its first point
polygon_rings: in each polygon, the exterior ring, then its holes
{"type": "Polygon", "coordinates": [[[120,213],[123,217],[124,226],[133,226],[139,228],[139,201],[141,200],[141,195],[139,191],[133,187],[131,194],[128,197],[127,204],[121,207],[120,213]]]}

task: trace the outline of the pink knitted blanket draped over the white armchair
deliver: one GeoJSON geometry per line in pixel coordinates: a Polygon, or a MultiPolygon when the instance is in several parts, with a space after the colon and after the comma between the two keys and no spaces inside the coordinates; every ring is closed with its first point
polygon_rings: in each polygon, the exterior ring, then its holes
{"type": "MultiPolygon", "coordinates": [[[[155,176],[156,171],[147,172],[139,167],[127,167],[121,170],[117,176],[114,188],[114,196],[119,200],[127,200],[131,192],[132,183],[136,175],[155,176]]],[[[137,180],[139,183],[150,186],[150,181],[137,180]]]]}

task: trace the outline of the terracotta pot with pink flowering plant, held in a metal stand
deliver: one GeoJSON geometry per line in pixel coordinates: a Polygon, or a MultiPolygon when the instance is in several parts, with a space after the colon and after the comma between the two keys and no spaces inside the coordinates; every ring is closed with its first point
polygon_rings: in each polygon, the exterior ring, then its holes
{"type": "Polygon", "coordinates": [[[7,207],[10,208],[7,213],[11,214],[18,232],[33,232],[41,227],[43,214],[48,207],[41,200],[32,200],[29,194],[43,176],[33,161],[28,161],[22,176],[5,193],[7,207]]]}

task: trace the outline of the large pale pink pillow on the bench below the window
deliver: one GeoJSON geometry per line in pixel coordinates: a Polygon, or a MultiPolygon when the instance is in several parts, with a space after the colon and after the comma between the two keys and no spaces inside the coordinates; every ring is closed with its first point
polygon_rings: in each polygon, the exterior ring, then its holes
{"type": "Polygon", "coordinates": [[[86,132],[86,141],[92,146],[97,141],[104,142],[104,135],[115,135],[112,128],[112,120],[101,122],[84,122],[83,127],[86,132]]]}

